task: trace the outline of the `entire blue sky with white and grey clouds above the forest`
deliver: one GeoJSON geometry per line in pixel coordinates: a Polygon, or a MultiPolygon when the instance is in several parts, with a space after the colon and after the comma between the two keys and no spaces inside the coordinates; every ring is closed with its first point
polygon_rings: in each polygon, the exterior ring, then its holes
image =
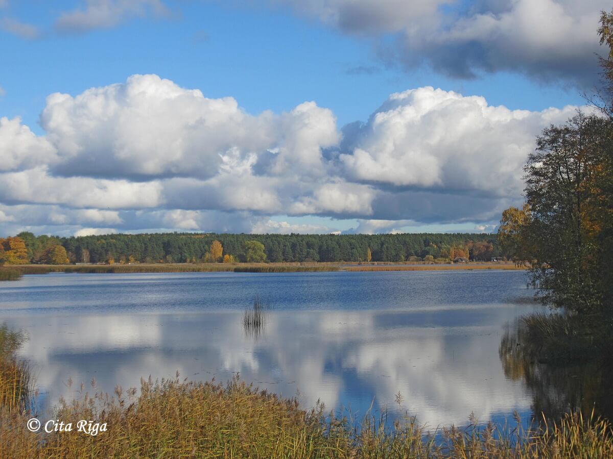
{"type": "Polygon", "coordinates": [[[0,235],[491,231],[608,7],[0,0],[0,235]]]}

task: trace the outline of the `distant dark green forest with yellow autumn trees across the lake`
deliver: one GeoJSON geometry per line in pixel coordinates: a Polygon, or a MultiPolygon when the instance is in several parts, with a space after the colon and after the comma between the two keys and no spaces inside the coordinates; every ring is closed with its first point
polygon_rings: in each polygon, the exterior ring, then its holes
{"type": "Polygon", "coordinates": [[[107,234],[0,239],[0,263],[489,261],[495,234],[107,234]]]}

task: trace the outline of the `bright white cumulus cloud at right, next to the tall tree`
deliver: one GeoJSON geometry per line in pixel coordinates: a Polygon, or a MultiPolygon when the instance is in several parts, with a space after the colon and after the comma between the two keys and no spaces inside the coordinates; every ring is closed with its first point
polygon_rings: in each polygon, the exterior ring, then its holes
{"type": "Polygon", "coordinates": [[[535,135],[575,110],[509,110],[483,97],[412,89],[390,95],[351,132],[340,161],[355,181],[518,195],[535,135]]]}

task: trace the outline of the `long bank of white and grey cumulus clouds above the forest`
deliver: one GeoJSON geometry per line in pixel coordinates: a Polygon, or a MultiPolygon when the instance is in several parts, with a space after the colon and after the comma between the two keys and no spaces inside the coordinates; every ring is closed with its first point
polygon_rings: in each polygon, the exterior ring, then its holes
{"type": "Polygon", "coordinates": [[[44,135],[0,118],[0,231],[330,233],[332,218],[356,219],[360,233],[488,230],[520,204],[535,136],[575,111],[509,110],[425,87],[339,130],[315,102],[250,114],[232,97],[134,75],[51,94],[44,135]],[[280,215],[330,218],[330,227],[280,215]]]}

